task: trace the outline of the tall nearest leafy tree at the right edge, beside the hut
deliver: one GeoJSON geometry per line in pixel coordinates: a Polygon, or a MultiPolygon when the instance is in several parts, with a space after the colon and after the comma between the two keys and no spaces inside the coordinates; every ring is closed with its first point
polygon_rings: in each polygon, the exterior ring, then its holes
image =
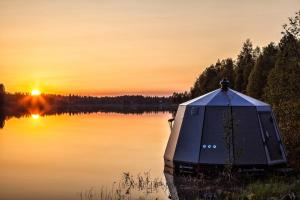
{"type": "Polygon", "coordinates": [[[275,68],[268,76],[265,98],[273,106],[288,150],[300,144],[300,41],[284,35],[275,68]]]}

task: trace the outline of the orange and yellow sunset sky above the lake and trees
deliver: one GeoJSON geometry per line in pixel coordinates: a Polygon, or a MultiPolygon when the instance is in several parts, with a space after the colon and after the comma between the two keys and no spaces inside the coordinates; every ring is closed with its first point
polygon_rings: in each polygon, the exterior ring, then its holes
{"type": "Polygon", "coordinates": [[[169,95],[250,38],[281,38],[300,0],[1,0],[9,92],[169,95]]]}

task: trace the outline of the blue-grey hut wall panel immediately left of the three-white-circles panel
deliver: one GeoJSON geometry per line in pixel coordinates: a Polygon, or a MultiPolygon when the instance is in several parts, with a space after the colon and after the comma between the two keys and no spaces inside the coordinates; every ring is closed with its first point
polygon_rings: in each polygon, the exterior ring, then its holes
{"type": "Polygon", "coordinates": [[[198,163],[204,106],[187,106],[181,124],[174,161],[198,163]]]}

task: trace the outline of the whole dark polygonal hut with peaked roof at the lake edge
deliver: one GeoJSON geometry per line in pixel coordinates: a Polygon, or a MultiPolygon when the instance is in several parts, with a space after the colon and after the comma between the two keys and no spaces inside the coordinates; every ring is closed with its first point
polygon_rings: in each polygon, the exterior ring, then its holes
{"type": "Polygon", "coordinates": [[[179,105],[164,154],[165,166],[232,164],[268,167],[286,163],[271,106],[228,88],[179,105]]]}

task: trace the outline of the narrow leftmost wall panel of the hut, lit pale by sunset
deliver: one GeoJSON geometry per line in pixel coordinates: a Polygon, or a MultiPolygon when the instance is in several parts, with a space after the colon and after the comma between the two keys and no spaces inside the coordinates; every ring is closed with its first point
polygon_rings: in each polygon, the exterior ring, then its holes
{"type": "Polygon", "coordinates": [[[181,124],[182,124],[182,120],[184,117],[184,113],[185,113],[185,108],[186,106],[182,106],[180,105],[178,107],[176,116],[175,116],[175,120],[174,120],[174,124],[171,130],[171,135],[169,137],[169,141],[167,144],[167,148],[165,151],[165,155],[164,155],[164,159],[165,159],[165,164],[169,165],[169,166],[173,166],[173,158],[174,158],[174,154],[175,154],[175,149],[176,149],[176,145],[177,145],[177,141],[178,141],[178,136],[179,136],[179,132],[181,129],[181,124]]]}

